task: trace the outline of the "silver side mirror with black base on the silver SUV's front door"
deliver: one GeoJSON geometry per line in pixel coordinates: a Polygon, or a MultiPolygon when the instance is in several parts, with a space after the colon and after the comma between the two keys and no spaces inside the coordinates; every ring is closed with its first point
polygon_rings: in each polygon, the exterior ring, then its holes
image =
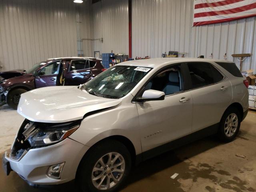
{"type": "Polygon", "coordinates": [[[136,102],[164,100],[164,96],[164,92],[150,89],[144,91],[142,97],[136,98],[136,102]]]}

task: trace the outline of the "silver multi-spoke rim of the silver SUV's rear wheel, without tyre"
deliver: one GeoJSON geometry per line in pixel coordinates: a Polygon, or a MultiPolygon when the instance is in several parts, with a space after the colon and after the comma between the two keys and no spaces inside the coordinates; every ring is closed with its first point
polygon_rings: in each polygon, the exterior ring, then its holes
{"type": "Polygon", "coordinates": [[[228,115],[224,124],[224,132],[226,136],[231,137],[235,134],[238,126],[238,117],[235,113],[228,115]]]}

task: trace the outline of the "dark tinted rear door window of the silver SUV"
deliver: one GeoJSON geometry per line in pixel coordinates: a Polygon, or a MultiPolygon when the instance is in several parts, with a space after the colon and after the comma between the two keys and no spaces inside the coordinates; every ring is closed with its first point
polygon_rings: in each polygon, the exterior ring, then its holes
{"type": "Polygon", "coordinates": [[[209,63],[188,63],[192,89],[214,84],[223,79],[222,74],[209,63]]]}

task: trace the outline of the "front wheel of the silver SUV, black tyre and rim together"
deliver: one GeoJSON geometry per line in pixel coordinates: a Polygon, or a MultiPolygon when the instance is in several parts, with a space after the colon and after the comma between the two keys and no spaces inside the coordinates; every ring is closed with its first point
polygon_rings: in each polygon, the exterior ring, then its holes
{"type": "Polygon", "coordinates": [[[83,192],[113,192],[124,184],[131,168],[130,152],[116,140],[93,146],[78,168],[77,180],[83,192]]]}

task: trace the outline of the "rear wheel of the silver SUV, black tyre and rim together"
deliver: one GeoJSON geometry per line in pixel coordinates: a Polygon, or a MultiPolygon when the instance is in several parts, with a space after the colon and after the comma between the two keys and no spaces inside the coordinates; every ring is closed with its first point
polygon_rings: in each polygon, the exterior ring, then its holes
{"type": "Polygon", "coordinates": [[[219,138],[224,142],[232,141],[239,132],[240,123],[241,117],[238,109],[234,107],[228,108],[220,121],[219,138]]]}

